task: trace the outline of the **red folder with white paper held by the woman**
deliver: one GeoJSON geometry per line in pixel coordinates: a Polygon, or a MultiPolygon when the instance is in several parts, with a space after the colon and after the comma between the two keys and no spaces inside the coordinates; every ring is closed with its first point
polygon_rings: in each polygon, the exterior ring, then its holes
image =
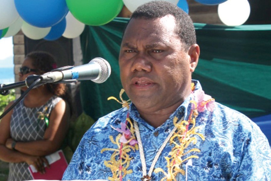
{"type": "Polygon", "coordinates": [[[63,151],[59,150],[53,154],[47,155],[46,159],[50,164],[50,168],[45,167],[45,174],[37,172],[33,165],[28,167],[33,179],[46,179],[46,180],[61,180],[68,163],[64,157],[63,151]]]}

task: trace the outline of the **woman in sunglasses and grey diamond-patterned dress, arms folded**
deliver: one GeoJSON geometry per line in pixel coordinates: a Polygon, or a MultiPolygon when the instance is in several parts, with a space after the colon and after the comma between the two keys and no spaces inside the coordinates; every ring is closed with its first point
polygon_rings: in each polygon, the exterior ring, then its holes
{"type": "MultiPolygon", "coordinates": [[[[56,68],[47,52],[32,52],[20,68],[20,81],[56,68]]],[[[25,91],[27,87],[22,87],[25,91]]],[[[33,179],[29,165],[45,173],[45,155],[60,149],[69,126],[70,106],[65,84],[44,84],[24,97],[0,122],[0,159],[9,162],[8,180],[33,179]]],[[[14,102],[14,101],[13,101],[14,102]]],[[[8,109],[13,102],[5,108],[8,109]]]]}

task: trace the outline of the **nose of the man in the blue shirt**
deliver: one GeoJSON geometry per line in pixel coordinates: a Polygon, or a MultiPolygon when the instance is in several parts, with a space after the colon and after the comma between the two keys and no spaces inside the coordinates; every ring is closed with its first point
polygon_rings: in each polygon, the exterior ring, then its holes
{"type": "Polygon", "coordinates": [[[146,71],[150,72],[152,64],[148,55],[145,52],[139,52],[135,57],[131,67],[131,71],[146,71]]]}

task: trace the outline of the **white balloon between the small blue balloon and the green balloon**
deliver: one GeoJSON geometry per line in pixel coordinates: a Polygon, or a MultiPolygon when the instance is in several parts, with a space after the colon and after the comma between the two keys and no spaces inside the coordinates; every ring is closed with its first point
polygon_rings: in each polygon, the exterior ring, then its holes
{"type": "Polygon", "coordinates": [[[84,28],[85,24],[75,19],[69,11],[66,16],[66,29],[62,36],[65,38],[76,38],[83,32],[84,28]]]}

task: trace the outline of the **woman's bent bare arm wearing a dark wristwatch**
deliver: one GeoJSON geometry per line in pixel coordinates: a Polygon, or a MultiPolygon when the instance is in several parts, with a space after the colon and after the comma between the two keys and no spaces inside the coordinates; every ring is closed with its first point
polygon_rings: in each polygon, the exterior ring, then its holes
{"type": "MultiPolygon", "coordinates": [[[[33,156],[44,156],[57,151],[68,130],[70,107],[64,100],[60,100],[51,111],[49,126],[45,130],[43,140],[30,142],[16,142],[15,150],[33,156]]],[[[13,140],[8,139],[6,146],[10,149],[13,140]]]]}

